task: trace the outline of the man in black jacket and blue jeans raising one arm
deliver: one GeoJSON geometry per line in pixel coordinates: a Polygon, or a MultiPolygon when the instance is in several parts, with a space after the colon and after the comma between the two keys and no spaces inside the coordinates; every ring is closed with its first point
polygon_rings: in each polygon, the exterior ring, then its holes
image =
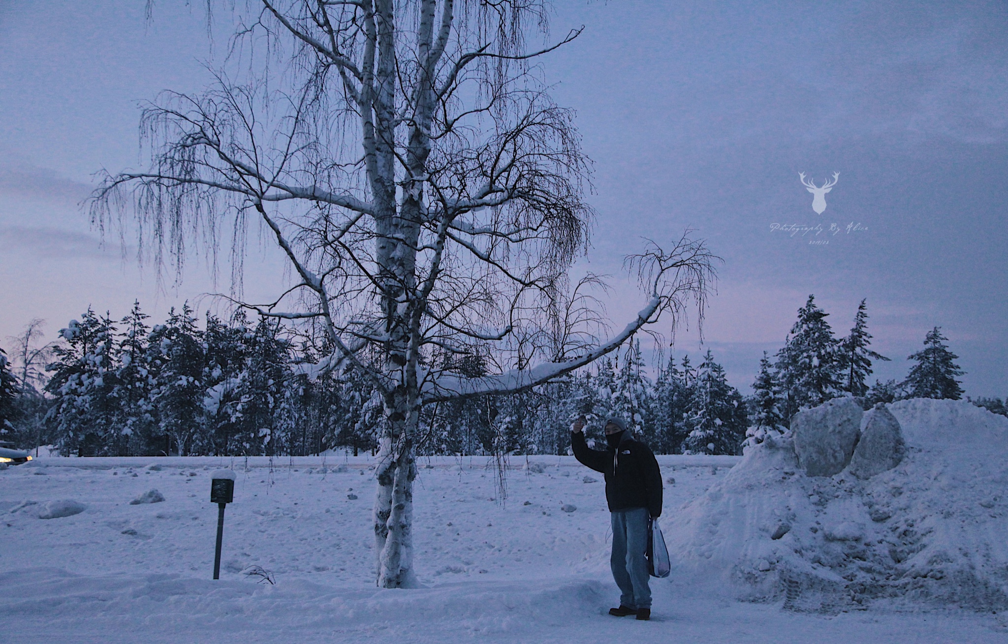
{"type": "Polygon", "coordinates": [[[575,421],[571,433],[574,455],[606,476],[606,501],[613,523],[613,553],[609,559],[620,588],[620,607],[610,615],[636,615],[651,619],[651,589],[648,587],[647,526],[661,514],[661,471],[650,449],[633,438],[623,419],[606,421],[609,449],[593,450],[585,442],[585,417],[575,421]]]}

